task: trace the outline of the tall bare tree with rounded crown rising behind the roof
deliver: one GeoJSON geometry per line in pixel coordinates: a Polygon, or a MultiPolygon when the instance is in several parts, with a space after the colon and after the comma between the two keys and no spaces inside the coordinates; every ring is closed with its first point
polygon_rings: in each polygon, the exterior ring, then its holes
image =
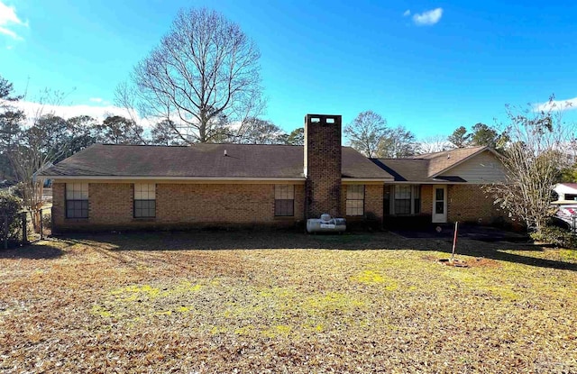
{"type": "Polygon", "coordinates": [[[219,116],[239,123],[262,109],[260,52],[238,24],[205,8],[181,10],[160,45],[133,71],[117,100],[169,120],[181,141],[222,138],[219,116]]]}

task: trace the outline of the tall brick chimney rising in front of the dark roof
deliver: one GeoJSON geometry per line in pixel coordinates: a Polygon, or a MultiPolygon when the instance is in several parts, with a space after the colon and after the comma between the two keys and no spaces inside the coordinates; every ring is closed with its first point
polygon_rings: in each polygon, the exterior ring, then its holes
{"type": "Polygon", "coordinates": [[[305,116],[306,218],[341,216],[341,116],[305,116]]]}

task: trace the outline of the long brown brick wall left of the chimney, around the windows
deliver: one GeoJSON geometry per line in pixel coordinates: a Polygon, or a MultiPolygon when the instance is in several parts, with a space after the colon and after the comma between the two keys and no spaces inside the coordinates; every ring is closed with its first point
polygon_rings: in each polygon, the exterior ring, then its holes
{"type": "Polygon", "coordinates": [[[274,216],[272,184],[156,185],[156,218],[133,218],[132,183],[90,183],[88,219],[67,219],[65,184],[54,183],[52,216],[55,231],[138,227],[195,227],[208,224],[292,225],[303,220],[303,185],[295,185],[294,216],[274,216]]]}

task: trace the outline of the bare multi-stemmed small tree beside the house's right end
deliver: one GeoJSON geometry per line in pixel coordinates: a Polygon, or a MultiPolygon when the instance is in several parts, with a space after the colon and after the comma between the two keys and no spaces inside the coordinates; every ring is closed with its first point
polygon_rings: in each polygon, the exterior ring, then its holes
{"type": "Polygon", "coordinates": [[[551,193],[561,169],[575,152],[575,128],[563,122],[553,98],[544,111],[510,106],[507,111],[509,143],[502,155],[507,180],[487,189],[511,218],[539,232],[553,214],[551,193]]]}

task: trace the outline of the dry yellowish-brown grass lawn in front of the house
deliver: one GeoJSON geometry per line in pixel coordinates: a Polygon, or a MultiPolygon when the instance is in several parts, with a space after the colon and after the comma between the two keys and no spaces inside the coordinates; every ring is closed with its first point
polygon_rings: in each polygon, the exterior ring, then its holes
{"type": "Polygon", "coordinates": [[[458,269],[449,250],[201,232],[0,251],[0,370],[577,372],[575,251],[463,241],[458,269]]]}

